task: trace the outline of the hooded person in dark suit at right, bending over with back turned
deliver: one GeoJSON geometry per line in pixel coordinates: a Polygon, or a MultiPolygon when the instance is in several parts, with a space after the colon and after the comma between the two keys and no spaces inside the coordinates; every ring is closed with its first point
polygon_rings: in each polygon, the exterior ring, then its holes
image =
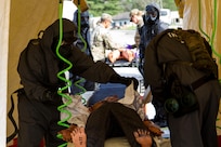
{"type": "MultiPolygon", "coordinates": [[[[214,75],[207,77],[207,72],[191,66],[192,55],[180,38],[171,29],[151,41],[145,51],[145,84],[151,85],[153,98],[157,98],[161,104],[168,98],[168,91],[165,91],[165,77],[176,74],[182,85],[192,88],[197,107],[181,116],[168,113],[168,126],[173,147],[218,147],[216,120],[221,96],[219,81],[214,75]]],[[[211,51],[208,42],[204,43],[211,51]]],[[[173,90],[170,89],[170,91],[173,90]]],[[[173,105],[170,106],[173,107],[173,105]]],[[[178,106],[181,105],[174,107],[178,108],[178,106]]],[[[182,108],[184,106],[179,109],[182,110],[182,108]]]]}

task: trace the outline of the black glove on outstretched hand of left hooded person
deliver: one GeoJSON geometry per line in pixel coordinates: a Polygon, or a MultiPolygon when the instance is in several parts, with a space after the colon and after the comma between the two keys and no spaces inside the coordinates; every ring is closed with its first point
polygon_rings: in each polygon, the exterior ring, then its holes
{"type": "Polygon", "coordinates": [[[112,83],[121,83],[121,84],[125,84],[126,86],[129,86],[132,81],[133,81],[133,89],[136,91],[138,85],[139,85],[139,81],[133,77],[126,78],[126,77],[121,77],[119,75],[114,75],[110,77],[110,80],[109,80],[109,82],[112,82],[112,83]]]}

